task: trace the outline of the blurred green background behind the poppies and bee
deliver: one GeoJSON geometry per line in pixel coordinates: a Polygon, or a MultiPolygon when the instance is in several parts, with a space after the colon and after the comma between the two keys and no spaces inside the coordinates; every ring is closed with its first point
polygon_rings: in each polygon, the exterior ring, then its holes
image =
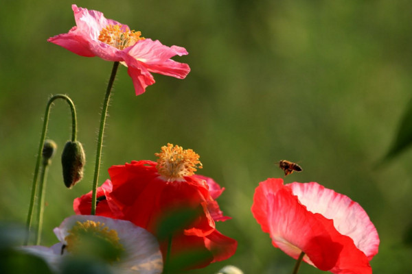
{"type": "MultiPolygon", "coordinates": [[[[57,101],[48,137],[59,146],[49,171],[43,245],[73,214],[93,179],[100,107],[111,62],[47,42],[74,23],[71,1],[2,1],[0,9],[0,220],[25,223],[47,99],[76,103],[84,179],[62,183],[60,153],[71,133],[57,101]]],[[[180,80],[154,75],[135,96],[119,68],[106,127],[100,184],[113,164],[155,160],[172,142],[201,155],[201,174],[226,188],[218,199],[233,217],[218,229],[239,242],[235,256],[192,273],[234,264],[245,273],[290,273],[295,260],[271,245],[251,214],[253,192],[283,177],[275,162],[304,169],[287,183],[319,182],[365,208],[380,235],[374,273],[411,271],[412,151],[374,168],[387,153],[412,98],[411,1],[77,1],[179,45],[190,64],[180,80]]],[[[321,273],[304,264],[299,273],[321,273]]]]}

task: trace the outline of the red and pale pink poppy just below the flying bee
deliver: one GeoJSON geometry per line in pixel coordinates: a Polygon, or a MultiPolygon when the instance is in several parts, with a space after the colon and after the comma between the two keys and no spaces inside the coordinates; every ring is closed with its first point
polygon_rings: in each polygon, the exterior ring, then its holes
{"type": "Polygon", "coordinates": [[[332,273],[372,273],[379,237],[361,206],[311,182],[267,179],[255,190],[252,213],[273,246],[332,273]]]}

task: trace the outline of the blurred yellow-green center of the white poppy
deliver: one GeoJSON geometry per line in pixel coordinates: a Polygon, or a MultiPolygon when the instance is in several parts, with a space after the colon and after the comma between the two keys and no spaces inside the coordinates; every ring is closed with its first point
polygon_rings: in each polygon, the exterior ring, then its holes
{"type": "Polygon", "coordinates": [[[79,221],[69,231],[65,237],[66,248],[70,253],[80,256],[97,256],[106,262],[116,262],[124,251],[124,247],[119,242],[117,231],[108,229],[104,223],[79,221]]]}

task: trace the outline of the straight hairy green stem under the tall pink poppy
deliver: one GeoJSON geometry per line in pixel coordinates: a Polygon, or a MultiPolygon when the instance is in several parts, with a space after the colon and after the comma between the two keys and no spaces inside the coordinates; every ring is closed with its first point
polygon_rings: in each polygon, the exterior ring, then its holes
{"type": "Polygon", "coordinates": [[[110,101],[111,89],[113,87],[113,82],[115,82],[115,77],[117,73],[117,68],[119,67],[119,62],[113,64],[113,69],[108,80],[106,95],[104,96],[102,114],[100,116],[100,128],[99,128],[99,137],[98,137],[98,149],[96,151],[96,160],[95,160],[95,173],[93,177],[93,186],[92,186],[92,196],[91,196],[91,215],[96,213],[96,195],[98,190],[98,180],[100,172],[100,161],[102,158],[102,146],[103,146],[103,135],[104,135],[104,126],[106,125],[107,117],[107,108],[108,102],[110,101]]]}

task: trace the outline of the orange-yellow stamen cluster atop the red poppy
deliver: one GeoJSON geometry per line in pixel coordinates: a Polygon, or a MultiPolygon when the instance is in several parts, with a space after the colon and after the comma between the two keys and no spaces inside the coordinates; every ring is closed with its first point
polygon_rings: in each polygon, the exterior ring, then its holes
{"type": "Polygon", "coordinates": [[[172,144],[163,146],[161,152],[155,153],[155,155],[158,157],[156,169],[168,181],[192,176],[197,169],[202,168],[197,153],[192,149],[183,149],[178,145],[174,147],[172,144]]]}

